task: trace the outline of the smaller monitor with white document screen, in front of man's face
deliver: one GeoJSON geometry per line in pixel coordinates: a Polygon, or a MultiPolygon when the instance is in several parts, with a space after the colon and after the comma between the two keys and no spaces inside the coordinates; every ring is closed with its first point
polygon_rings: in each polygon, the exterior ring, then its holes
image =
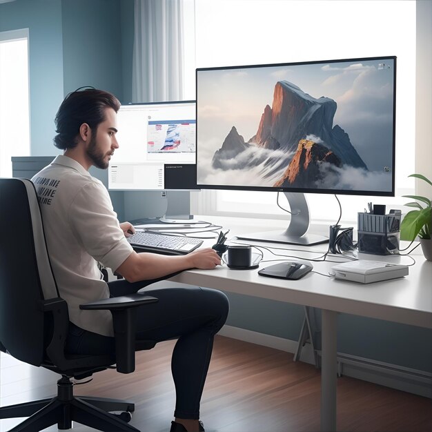
{"type": "Polygon", "coordinates": [[[180,191],[197,190],[195,114],[195,101],[122,105],[117,113],[120,146],[108,168],[108,188],[168,191],[166,222],[191,219],[179,205],[189,204],[180,191]]]}

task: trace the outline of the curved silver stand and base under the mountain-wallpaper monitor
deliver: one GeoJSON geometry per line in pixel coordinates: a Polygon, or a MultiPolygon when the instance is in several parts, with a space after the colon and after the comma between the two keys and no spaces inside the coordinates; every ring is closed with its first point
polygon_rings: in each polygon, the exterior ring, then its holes
{"type": "Polygon", "coordinates": [[[257,242],[274,242],[284,244],[300,244],[313,246],[328,243],[328,237],[317,234],[306,234],[309,228],[309,208],[304,193],[284,192],[291,208],[291,221],[285,231],[264,231],[237,235],[238,239],[255,240],[257,242]]]}

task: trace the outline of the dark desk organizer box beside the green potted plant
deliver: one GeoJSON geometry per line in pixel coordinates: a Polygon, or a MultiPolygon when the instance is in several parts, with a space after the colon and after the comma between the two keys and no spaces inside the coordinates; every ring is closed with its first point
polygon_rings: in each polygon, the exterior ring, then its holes
{"type": "Polygon", "coordinates": [[[373,255],[399,253],[400,215],[358,213],[357,217],[359,252],[373,255]]]}

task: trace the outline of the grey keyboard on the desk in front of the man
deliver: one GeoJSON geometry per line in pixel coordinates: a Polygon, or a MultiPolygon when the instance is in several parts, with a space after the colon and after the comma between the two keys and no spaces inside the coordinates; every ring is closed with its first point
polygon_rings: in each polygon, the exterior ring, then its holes
{"type": "Polygon", "coordinates": [[[142,252],[155,252],[164,255],[186,255],[202,245],[202,239],[137,231],[128,237],[128,242],[142,252]]]}

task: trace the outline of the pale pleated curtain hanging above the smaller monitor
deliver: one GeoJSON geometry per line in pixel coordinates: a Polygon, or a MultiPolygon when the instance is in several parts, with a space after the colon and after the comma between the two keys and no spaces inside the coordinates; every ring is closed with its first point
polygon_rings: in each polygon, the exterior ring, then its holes
{"type": "Polygon", "coordinates": [[[183,99],[181,0],[135,0],[132,101],[183,99]]]}

